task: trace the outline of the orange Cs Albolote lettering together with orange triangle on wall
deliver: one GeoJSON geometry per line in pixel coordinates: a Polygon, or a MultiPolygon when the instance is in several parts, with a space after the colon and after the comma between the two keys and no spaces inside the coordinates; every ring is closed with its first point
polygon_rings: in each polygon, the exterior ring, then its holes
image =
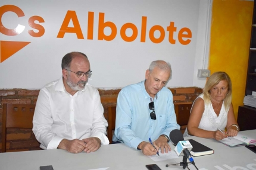
{"type": "MultiPolygon", "coordinates": [[[[24,17],[24,12],[18,8],[15,5],[4,5],[0,7],[0,33],[6,35],[6,36],[17,36],[18,34],[21,34],[25,26],[21,24],[17,24],[17,27],[14,29],[5,28],[2,24],[2,16],[5,14],[5,12],[14,12],[17,14],[18,17],[24,17]]],[[[138,30],[138,27],[133,23],[125,23],[121,26],[120,31],[117,29],[117,26],[115,23],[111,21],[105,21],[105,14],[102,12],[99,12],[99,18],[98,18],[98,30],[93,28],[93,23],[95,21],[94,18],[94,12],[88,12],[88,30],[87,30],[87,39],[93,40],[93,31],[98,31],[98,40],[105,40],[105,41],[113,41],[117,34],[120,34],[120,37],[122,40],[126,42],[132,42],[135,41],[137,38],[140,39],[141,43],[145,43],[146,41],[151,41],[152,43],[161,43],[164,41],[166,34],[168,34],[168,42],[170,44],[176,44],[176,40],[182,44],[182,45],[188,45],[191,43],[192,39],[192,31],[189,28],[183,27],[180,29],[177,29],[177,27],[174,26],[174,22],[170,22],[166,29],[162,27],[161,25],[153,25],[151,28],[149,28],[149,33],[146,35],[147,27],[147,20],[148,18],[145,16],[142,16],[141,19],[141,30],[138,30]],[[104,29],[108,27],[111,30],[110,35],[105,35],[104,29]],[[127,36],[126,30],[130,29],[132,30],[132,35],[127,36]],[[155,32],[160,33],[159,37],[155,37],[155,32]],[[176,34],[177,32],[177,34],[176,34]],[[140,37],[139,37],[140,33],[140,37]]],[[[29,18],[28,23],[29,26],[35,30],[29,30],[27,31],[30,36],[32,37],[41,37],[45,33],[45,28],[43,28],[42,25],[36,24],[37,23],[45,23],[42,17],[40,16],[32,16],[29,18]]],[[[83,20],[84,21],[84,20],[83,20]]],[[[63,23],[60,27],[60,30],[58,32],[57,38],[64,39],[64,35],[66,33],[76,34],[77,39],[85,39],[83,36],[83,31],[80,27],[79,20],[76,15],[76,11],[67,11],[67,14],[64,17],[63,23]],[[68,27],[68,24],[72,22],[74,27],[68,27]]],[[[14,53],[17,53],[19,50],[23,49],[23,47],[27,46],[30,42],[24,42],[24,41],[0,41],[0,62],[4,62],[4,60],[8,59],[8,57],[12,56],[14,53]]]]}

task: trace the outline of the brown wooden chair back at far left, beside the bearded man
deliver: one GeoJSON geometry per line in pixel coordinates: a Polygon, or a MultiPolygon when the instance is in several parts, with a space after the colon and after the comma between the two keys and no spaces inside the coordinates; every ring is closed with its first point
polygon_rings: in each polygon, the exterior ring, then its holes
{"type": "Polygon", "coordinates": [[[32,129],[35,104],[3,104],[2,152],[6,152],[7,128],[32,129]]]}

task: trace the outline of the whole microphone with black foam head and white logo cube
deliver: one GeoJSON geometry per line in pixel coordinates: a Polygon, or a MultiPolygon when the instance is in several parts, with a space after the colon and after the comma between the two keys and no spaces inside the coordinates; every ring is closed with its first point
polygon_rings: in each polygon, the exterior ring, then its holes
{"type": "Polygon", "coordinates": [[[180,156],[180,153],[183,153],[186,156],[186,158],[189,159],[189,161],[191,161],[192,164],[195,164],[191,156],[191,153],[189,152],[189,150],[191,150],[193,147],[188,140],[184,140],[183,134],[180,130],[174,129],[173,131],[171,131],[170,140],[176,146],[174,150],[178,156],[180,156]]]}

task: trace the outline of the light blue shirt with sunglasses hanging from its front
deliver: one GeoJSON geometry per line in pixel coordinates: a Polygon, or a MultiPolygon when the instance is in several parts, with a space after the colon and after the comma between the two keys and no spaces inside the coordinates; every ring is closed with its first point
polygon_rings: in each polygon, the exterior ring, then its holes
{"type": "Polygon", "coordinates": [[[161,134],[169,136],[170,131],[180,129],[174,111],[173,94],[166,87],[155,95],[156,120],[150,118],[148,104],[153,99],[146,92],[145,81],[124,87],[118,94],[115,133],[113,141],[137,149],[139,143],[151,137],[152,141],[161,134]]]}

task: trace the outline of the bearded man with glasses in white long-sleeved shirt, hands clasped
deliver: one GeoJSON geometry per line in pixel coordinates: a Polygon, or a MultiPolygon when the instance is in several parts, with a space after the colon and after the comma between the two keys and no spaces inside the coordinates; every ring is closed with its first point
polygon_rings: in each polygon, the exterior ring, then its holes
{"type": "Polygon", "coordinates": [[[61,78],[40,89],[33,132],[42,149],[94,152],[109,143],[108,123],[98,90],[88,84],[92,73],[88,57],[65,54],[61,68],[61,78]]]}

